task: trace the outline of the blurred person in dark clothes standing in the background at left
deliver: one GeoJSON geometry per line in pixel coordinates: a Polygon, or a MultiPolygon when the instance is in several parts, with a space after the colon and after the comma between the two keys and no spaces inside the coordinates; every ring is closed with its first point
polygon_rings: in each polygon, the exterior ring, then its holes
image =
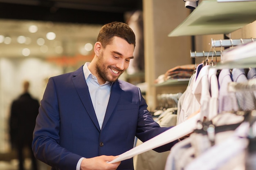
{"type": "Polygon", "coordinates": [[[33,130],[38,115],[39,102],[29,93],[29,82],[23,82],[23,93],[11,104],[9,132],[11,147],[18,152],[19,170],[25,170],[25,149],[31,157],[32,170],[38,170],[37,160],[32,152],[31,143],[33,130]]]}

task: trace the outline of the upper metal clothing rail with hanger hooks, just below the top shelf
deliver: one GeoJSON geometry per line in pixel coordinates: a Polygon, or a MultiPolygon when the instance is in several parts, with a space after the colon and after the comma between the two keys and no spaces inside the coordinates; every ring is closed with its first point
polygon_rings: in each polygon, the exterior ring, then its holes
{"type": "Polygon", "coordinates": [[[246,44],[248,42],[256,41],[254,38],[248,38],[248,39],[232,39],[229,38],[227,40],[213,40],[211,39],[211,47],[231,47],[231,46],[237,46],[241,44],[246,44]]]}

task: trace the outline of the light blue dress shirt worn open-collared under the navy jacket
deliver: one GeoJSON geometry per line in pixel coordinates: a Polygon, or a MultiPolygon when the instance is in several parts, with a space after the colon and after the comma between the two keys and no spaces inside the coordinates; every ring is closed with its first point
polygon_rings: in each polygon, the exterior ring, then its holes
{"type": "MultiPolygon", "coordinates": [[[[102,127],[105,113],[108,106],[108,101],[110,97],[111,82],[106,82],[105,84],[100,85],[98,79],[95,75],[92,75],[88,69],[90,62],[86,62],[83,66],[83,73],[85,75],[85,81],[89,88],[90,97],[92,100],[92,105],[96,113],[99,126],[102,127]]],[[[81,162],[84,158],[79,159],[76,170],[80,170],[81,162]]]]}

